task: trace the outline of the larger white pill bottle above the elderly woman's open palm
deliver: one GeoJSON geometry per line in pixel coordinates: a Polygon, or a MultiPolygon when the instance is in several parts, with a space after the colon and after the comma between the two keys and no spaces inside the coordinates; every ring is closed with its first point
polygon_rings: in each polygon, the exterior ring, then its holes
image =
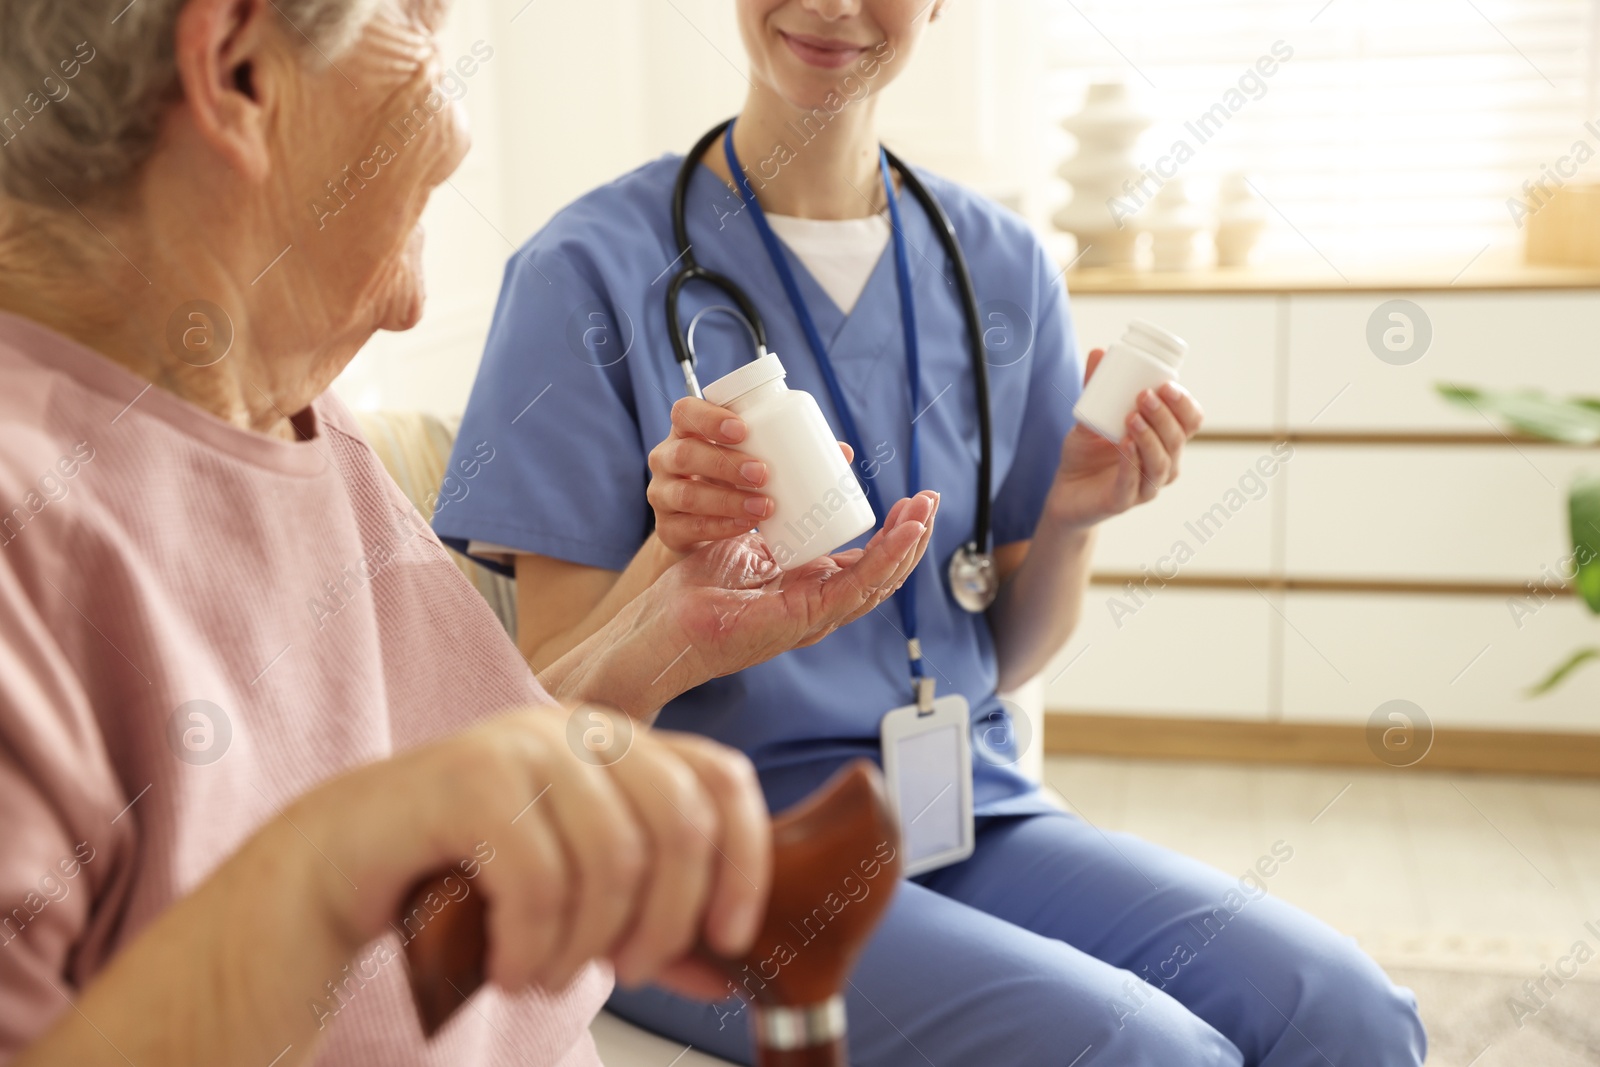
{"type": "Polygon", "coordinates": [[[856,472],[808,392],[784,384],[784,365],[768,352],[706,386],[706,400],[744,421],[739,451],[766,464],[762,493],[773,514],[757,530],[778,566],[797,568],[872,530],[875,518],[856,472]]]}

